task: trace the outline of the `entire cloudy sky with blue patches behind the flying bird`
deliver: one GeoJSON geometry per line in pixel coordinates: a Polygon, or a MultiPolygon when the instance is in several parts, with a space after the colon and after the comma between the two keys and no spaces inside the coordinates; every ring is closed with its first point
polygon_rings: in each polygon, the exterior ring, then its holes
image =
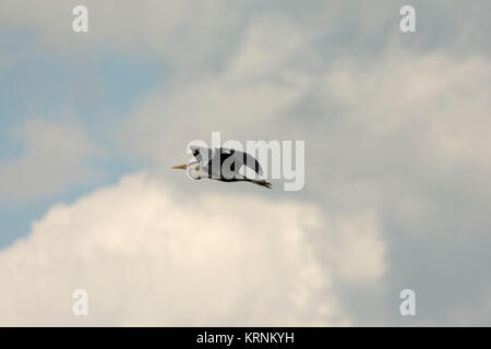
{"type": "Polygon", "coordinates": [[[0,325],[489,326],[490,13],[3,0],[0,325]],[[170,170],[213,131],[304,141],[304,188],[170,170]]]}

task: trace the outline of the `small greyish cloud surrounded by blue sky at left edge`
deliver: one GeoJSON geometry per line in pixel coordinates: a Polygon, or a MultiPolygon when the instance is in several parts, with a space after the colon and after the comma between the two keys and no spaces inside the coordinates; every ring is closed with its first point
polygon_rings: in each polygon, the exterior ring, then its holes
{"type": "Polygon", "coordinates": [[[87,159],[100,155],[75,121],[27,120],[12,132],[24,143],[20,158],[0,165],[0,200],[22,203],[62,192],[94,179],[87,159]]]}

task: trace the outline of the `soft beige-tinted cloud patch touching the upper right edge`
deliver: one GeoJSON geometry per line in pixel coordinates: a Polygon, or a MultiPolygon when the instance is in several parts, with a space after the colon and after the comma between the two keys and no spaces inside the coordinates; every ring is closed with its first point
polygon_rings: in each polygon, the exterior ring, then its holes
{"type": "Polygon", "coordinates": [[[391,47],[378,62],[333,64],[322,91],[346,110],[349,122],[385,135],[424,123],[429,146],[452,160],[491,157],[483,130],[491,127],[491,63],[479,56],[416,56],[391,47]]]}

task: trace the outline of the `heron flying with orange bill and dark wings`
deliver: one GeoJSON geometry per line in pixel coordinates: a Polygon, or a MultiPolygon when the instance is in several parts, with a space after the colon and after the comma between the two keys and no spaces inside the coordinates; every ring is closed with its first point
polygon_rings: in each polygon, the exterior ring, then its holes
{"type": "Polygon", "coordinates": [[[263,169],[253,156],[237,149],[220,147],[211,149],[190,146],[193,160],[187,165],[173,166],[173,169],[187,170],[192,179],[213,179],[221,182],[250,182],[271,189],[272,184],[265,180],[248,178],[240,173],[246,166],[262,176],[263,169]]]}

